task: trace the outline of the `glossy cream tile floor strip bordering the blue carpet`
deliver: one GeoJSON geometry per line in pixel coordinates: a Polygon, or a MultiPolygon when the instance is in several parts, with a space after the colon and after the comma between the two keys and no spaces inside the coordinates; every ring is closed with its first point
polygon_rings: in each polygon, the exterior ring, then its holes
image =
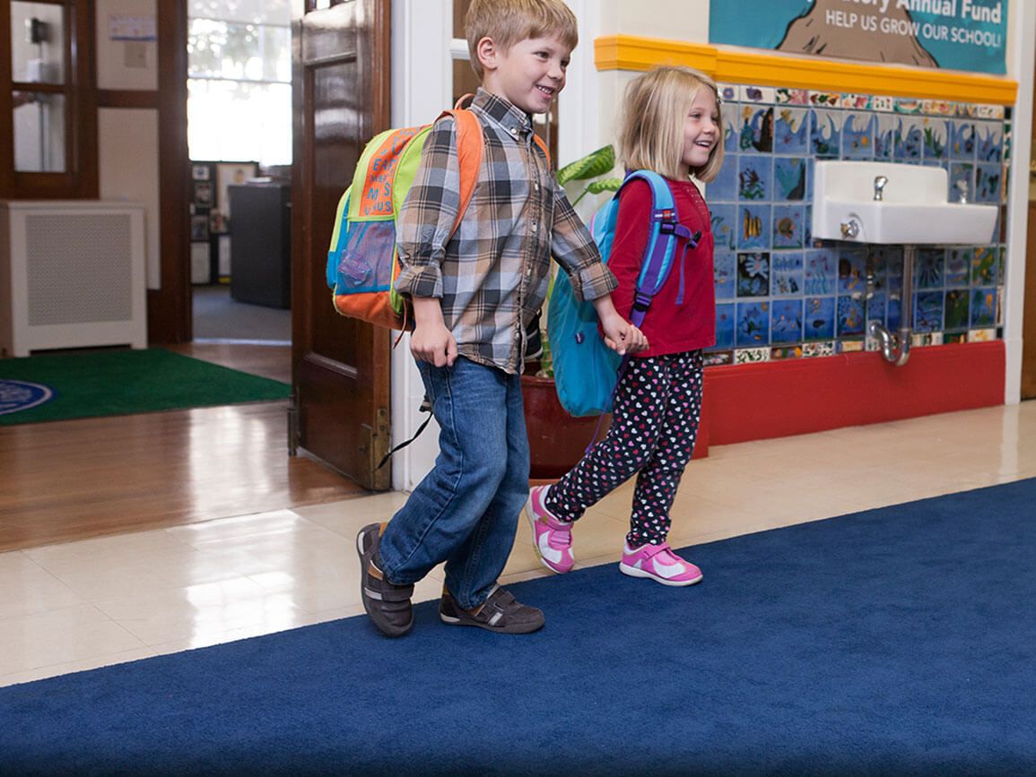
{"type": "MultiPolygon", "coordinates": [[[[1036,402],[713,447],[688,468],[670,541],[693,545],[1033,476],[1036,402]]],[[[580,522],[581,566],[617,560],[631,494],[627,484],[580,522]]],[[[0,554],[0,685],[357,615],[355,533],[404,499],[0,554]]],[[[502,579],[543,574],[522,521],[502,579]]],[[[436,597],[441,580],[435,570],[416,598],[436,597]]]]}

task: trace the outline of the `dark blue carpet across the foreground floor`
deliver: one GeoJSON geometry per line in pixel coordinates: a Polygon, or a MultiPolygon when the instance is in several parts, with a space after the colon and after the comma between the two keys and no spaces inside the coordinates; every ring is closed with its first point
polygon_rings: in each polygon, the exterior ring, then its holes
{"type": "MultiPolygon", "coordinates": [[[[0,689],[0,773],[1036,773],[1036,480],[0,689]]],[[[581,527],[593,531],[593,524],[581,527]]],[[[577,537],[578,541],[578,537],[577,537]]]]}

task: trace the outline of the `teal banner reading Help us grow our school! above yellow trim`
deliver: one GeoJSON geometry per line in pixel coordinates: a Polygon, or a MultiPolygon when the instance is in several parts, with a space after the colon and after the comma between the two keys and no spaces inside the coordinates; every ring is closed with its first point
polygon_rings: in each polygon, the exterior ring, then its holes
{"type": "Polygon", "coordinates": [[[1002,74],[1007,7],[1008,0],[712,0],[709,40],[1002,74]]]}

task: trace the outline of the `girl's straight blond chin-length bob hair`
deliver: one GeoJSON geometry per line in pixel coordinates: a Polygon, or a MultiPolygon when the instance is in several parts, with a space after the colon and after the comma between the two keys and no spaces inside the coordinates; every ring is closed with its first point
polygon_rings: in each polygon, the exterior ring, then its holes
{"type": "MultiPolygon", "coordinates": [[[[681,177],[684,121],[699,89],[709,89],[719,110],[716,82],[690,67],[661,66],[641,73],[626,88],[618,153],[629,170],[654,170],[667,178],[681,177]]],[[[691,175],[709,182],[723,163],[723,129],[709,154],[709,161],[691,175]]]]}

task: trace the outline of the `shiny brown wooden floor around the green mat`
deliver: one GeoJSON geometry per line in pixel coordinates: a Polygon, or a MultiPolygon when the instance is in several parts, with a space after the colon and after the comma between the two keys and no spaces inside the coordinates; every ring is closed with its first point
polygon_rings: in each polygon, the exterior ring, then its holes
{"type": "MultiPolygon", "coordinates": [[[[290,383],[290,349],[179,353],[290,383]]],[[[368,494],[287,448],[287,401],[0,427],[0,551],[368,494]]]]}

